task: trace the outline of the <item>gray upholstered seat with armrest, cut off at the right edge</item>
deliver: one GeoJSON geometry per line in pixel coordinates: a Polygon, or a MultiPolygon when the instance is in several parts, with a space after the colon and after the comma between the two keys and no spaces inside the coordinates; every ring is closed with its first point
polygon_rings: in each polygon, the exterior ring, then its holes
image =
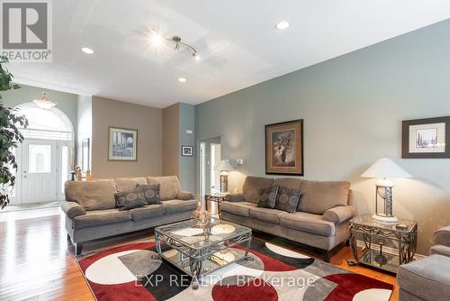
{"type": "Polygon", "coordinates": [[[450,300],[450,226],[434,234],[430,256],[401,265],[400,301],[450,300]]]}

